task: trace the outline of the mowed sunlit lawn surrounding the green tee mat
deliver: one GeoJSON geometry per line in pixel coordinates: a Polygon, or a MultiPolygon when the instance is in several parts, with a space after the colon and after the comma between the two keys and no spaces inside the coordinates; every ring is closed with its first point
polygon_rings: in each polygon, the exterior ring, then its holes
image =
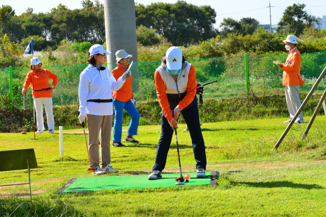
{"type": "MultiPolygon", "coordinates": [[[[305,117],[308,122],[310,117],[305,117]]],[[[34,206],[23,203],[27,186],[0,187],[0,216],[325,216],[326,116],[318,116],[306,139],[307,123],[293,125],[278,150],[286,119],[204,123],[207,171],[219,171],[219,186],[129,189],[87,194],[56,192],[68,180],[91,176],[83,129],[64,130],[64,157],[59,131],[26,135],[0,133],[0,151],[34,148],[39,168],[31,170],[34,206]]],[[[195,172],[189,132],[178,140],[184,173],[195,172]]],[[[124,127],[123,136],[127,127],[124,127]]],[[[119,175],[149,174],[154,165],[160,126],[140,126],[141,143],[111,147],[112,166],[119,175]],[[159,132],[157,132],[159,131],[159,132]]],[[[1,162],[6,164],[6,162],[1,162]]],[[[179,172],[175,138],[163,172],[179,172]]],[[[164,176],[164,174],[163,174],[164,176]]],[[[0,185],[28,180],[26,171],[0,173],[0,185]]]]}

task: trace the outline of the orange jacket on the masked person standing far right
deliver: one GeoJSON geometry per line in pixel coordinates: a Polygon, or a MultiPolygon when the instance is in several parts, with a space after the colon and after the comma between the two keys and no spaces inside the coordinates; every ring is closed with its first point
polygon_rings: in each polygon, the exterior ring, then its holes
{"type": "Polygon", "coordinates": [[[301,55],[295,48],[286,58],[286,63],[283,64],[283,86],[300,86],[305,84],[300,77],[301,55]]]}

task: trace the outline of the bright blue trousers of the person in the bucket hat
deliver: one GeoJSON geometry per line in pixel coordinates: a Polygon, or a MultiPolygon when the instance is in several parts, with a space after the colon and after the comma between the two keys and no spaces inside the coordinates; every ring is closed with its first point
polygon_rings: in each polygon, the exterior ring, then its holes
{"type": "Polygon", "coordinates": [[[132,103],[132,101],[129,100],[127,102],[121,102],[113,98],[113,106],[114,106],[115,118],[114,118],[112,142],[114,143],[121,142],[123,110],[125,110],[131,116],[131,121],[129,123],[127,135],[137,135],[140,115],[137,111],[137,108],[132,103]]]}

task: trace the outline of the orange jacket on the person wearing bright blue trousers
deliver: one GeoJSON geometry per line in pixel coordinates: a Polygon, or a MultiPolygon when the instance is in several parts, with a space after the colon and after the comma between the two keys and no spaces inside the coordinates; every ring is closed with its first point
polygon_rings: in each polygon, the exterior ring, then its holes
{"type": "MultiPolygon", "coordinates": [[[[124,65],[117,63],[118,66],[112,70],[113,76],[118,80],[119,77],[121,77],[124,74],[124,65]],[[119,67],[120,66],[120,67],[119,67]]],[[[129,65],[128,65],[129,67],[129,65]]],[[[127,102],[133,97],[132,93],[132,74],[129,78],[126,79],[126,82],[123,84],[123,86],[116,92],[112,92],[113,98],[121,101],[121,102],[127,102]]]]}

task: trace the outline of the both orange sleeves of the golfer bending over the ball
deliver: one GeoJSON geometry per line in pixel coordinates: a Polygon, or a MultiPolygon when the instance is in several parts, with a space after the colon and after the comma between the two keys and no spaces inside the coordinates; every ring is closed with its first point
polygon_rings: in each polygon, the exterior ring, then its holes
{"type": "MultiPolygon", "coordinates": [[[[163,114],[168,120],[171,120],[172,115],[170,110],[170,102],[168,101],[168,97],[166,93],[166,87],[164,84],[164,80],[162,79],[157,69],[154,74],[154,79],[155,79],[157,98],[162,108],[163,114]]],[[[178,104],[181,110],[183,110],[183,108],[188,106],[194,100],[196,91],[197,91],[196,70],[195,67],[191,65],[188,74],[188,83],[187,83],[187,91],[186,91],[187,95],[185,95],[185,97],[178,104]]]]}

